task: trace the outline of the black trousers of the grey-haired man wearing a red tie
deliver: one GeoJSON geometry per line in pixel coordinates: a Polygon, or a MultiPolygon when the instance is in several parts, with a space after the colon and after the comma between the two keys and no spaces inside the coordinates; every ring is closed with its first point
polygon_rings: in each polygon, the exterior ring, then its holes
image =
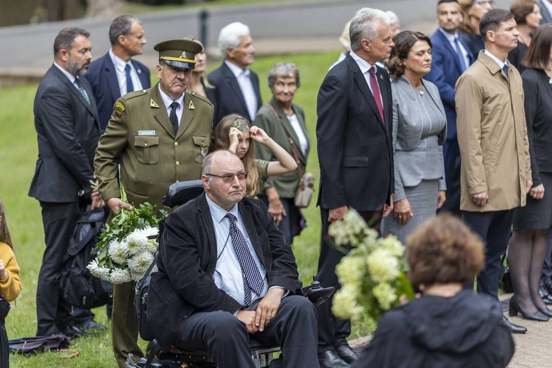
{"type": "MultiPolygon", "coordinates": [[[[322,242],[320,246],[320,258],[318,259],[318,278],[322,286],[335,286],[336,291],[341,287],[337,280],[336,266],[343,258],[344,254],[335,249],[329,242],[326,241],[328,234],[329,211],[320,209],[322,221],[322,242]]],[[[371,227],[379,230],[381,223],[382,211],[363,211],[359,212],[360,216],[371,227]]],[[[337,318],[332,313],[333,296],[316,307],[318,312],[318,351],[324,351],[338,348],[347,343],[347,337],[351,334],[351,321],[337,318]]]]}

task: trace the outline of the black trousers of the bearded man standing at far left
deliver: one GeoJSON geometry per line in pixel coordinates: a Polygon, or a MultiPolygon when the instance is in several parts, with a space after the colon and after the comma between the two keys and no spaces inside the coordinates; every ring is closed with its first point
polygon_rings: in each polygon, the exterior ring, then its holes
{"type": "Polygon", "coordinates": [[[50,335],[71,324],[71,306],[59,287],[60,268],[78,215],[77,202],[40,202],[46,249],[36,286],[36,335],[50,335]]]}

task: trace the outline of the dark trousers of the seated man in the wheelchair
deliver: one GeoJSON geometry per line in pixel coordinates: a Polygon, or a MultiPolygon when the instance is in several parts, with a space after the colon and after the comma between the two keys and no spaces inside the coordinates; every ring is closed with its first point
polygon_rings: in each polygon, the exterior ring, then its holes
{"type": "Polygon", "coordinates": [[[205,349],[220,368],[254,368],[250,339],[282,347],[284,367],[318,367],[316,311],[304,296],[282,299],[263,332],[247,333],[245,323],[229,312],[199,312],[182,324],[177,348],[205,349]]]}

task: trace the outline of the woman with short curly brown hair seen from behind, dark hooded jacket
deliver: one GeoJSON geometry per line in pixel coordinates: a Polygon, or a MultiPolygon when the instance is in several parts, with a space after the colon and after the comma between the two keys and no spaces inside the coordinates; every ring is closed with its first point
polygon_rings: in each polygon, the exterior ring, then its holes
{"type": "Polygon", "coordinates": [[[495,297],[463,286],[484,266],[483,242],[462,221],[443,214],[406,243],[408,278],[417,298],[380,319],[368,349],[352,368],[503,368],[514,352],[495,297]]]}

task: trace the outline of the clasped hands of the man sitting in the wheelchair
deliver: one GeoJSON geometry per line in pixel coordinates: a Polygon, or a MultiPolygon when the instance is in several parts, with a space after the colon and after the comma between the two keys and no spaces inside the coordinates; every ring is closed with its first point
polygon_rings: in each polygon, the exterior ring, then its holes
{"type": "Polygon", "coordinates": [[[285,289],[275,287],[267,292],[255,311],[239,311],[236,318],[245,323],[248,333],[263,331],[272,318],[276,315],[285,289]]]}

